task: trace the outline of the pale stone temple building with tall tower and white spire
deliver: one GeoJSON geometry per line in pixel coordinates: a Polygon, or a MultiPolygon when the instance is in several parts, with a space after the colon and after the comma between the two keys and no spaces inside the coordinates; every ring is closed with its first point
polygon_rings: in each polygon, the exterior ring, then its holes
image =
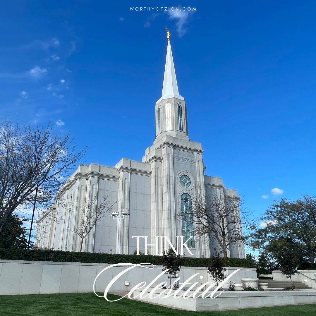
{"type": "MultiPolygon", "coordinates": [[[[192,236],[187,245],[193,256],[211,256],[216,245],[208,237],[195,240],[193,227],[183,224],[177,214],[190,211],[197,192],[224,198],[238,198],[238,193],[226,189],[221,178],[204,174],[204,150],[188,137],[186,104],[179,94],[170,40],[155,113],[156,138],[146,149],[143,161],[123,158],[114,167],[80,165],[60,190],[65,203],[52,205],[40,217],[36,246],[80,251],[81,240],[75,228],[84,205],[106,197],[114,205],[83,240],[82,251],[133,254],[137,239],[132,236],[148,236],[149,244],[155,244],[156,236],[167,236],[173,245],[176,236],[192,236]],[[113,218],[112,212],[118,216],[113,218]]],[[[139,244],[144,251],[144,239],[139,244]]],[[[155,254],[154,248],[149,246],[149,252],[155,254]]],[[[227,256],[244,258],[243,244],[231,244],[227,256]]]]}

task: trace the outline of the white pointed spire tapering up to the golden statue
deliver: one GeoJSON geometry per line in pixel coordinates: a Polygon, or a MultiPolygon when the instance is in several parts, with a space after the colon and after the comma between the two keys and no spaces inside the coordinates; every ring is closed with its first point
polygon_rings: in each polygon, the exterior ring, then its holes
{"type": "Polygon", "coordinates": [[[177,83],[177,78],[176,78],[176,72],[174,70],[173,57],[172,57],[172,51],[171,51],[169,38],[168,38],[168,47],[167,47],[167,56],[166,56],[166,65],[165,65],[165,75],[163,77],[162,94],[161,94],[161,99],[167,99],[167,98],[178,98],[178,99],[184,100],[184,98],[179,94],[179,90],[178,90],[178,83],[177,83]]]}

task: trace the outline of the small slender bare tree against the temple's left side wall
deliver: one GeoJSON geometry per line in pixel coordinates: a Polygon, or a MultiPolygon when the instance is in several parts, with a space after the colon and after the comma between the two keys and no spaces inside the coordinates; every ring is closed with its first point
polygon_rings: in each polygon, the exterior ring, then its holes
{"type": "Polygon", "coordinates": [[[112,209],[114,204],[110,203],[108,196],[103,197],[101,202],[98,204],[96,196],[91,199],[87,205],[81,207],[79,223],[74,230],[81,239],[80,251],[82,251],[83,240],[88,236],[96,223],[112,209]]]}

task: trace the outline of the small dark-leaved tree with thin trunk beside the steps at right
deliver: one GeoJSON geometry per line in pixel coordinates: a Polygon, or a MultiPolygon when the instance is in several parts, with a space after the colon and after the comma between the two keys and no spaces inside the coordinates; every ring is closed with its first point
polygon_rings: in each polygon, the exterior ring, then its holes
{"type": "Polygon", "coordinates": [[[270,241],[266,247],[271,256],[276,260],[281,272],[291,280],[292,289],[295,285],[292,281],[292,275],[297,272],[298,265],[301,262],[301,252],[291,240],[278,239],[270,241]]]}

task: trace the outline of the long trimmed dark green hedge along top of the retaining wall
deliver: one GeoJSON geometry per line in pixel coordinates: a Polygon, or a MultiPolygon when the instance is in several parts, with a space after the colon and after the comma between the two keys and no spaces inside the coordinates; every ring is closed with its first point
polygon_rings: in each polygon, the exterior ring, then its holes
{"type": "MultiPolygon", "coordinates": [[[[161,256],[121,255],[97,252],[70,252],[58,250],[25,250],[0,249],[0,259],[7,260],[33,260],[58,262],[86,262],[86,263],[151,263],[162,265],[161,256]]],[[[207,267],[210,258],[182,258],[184,267],[207,267]]],[[[251,260],[239,258],[221,258],[225,266],[239,268],[255,268],[251,260]]]]}

